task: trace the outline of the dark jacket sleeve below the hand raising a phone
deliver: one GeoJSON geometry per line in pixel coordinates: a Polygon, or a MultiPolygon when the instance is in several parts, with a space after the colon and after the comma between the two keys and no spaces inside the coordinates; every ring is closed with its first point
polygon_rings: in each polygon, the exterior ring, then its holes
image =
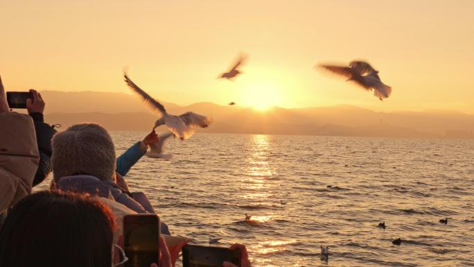
{"type": "Polygon", "coordinates": [[[44,178],[51,173],[51,154],[53,153],[51,139],[57,131],[49,124],[44,123],[43,114],[40,112],[30,113],[30,117],[35,123],[36,141],[38,150],[40,150],[40,165],[36,171],[35,180],[33,180],[34,187],[43,182],[44,178]]]}

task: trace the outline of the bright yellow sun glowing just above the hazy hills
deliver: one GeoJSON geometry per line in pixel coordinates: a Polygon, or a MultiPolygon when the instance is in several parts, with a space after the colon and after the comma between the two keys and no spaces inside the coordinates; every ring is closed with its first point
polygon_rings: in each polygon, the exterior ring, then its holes
{"type": "Polygon", "coordinates": [[[277,85],[256,82],[243,89],[243,105],[265,111],[279,104],[281,97],[277,85]]]}

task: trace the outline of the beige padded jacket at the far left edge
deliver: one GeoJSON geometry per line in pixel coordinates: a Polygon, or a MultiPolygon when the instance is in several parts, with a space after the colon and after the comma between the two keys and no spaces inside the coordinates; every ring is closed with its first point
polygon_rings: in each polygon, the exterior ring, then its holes
{"type": "Polygon", "coordinates": [[[0,113],[0,213],[31,193],[40,155],[33,120],[0,113]]]}

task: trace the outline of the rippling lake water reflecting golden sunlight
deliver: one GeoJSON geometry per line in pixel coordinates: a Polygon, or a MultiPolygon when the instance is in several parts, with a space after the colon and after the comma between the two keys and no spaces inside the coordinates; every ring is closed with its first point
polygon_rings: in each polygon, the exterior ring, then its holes
{"type": "MultiPolygon", "coordinates": [[[[146,132],[111,134],[119,155],[146,132]]],[[[244,243],[253,266],[474,266],[472,140],[198,134],[165,149],[128,173],[132,191],[173,234],[244,243]]]]}

